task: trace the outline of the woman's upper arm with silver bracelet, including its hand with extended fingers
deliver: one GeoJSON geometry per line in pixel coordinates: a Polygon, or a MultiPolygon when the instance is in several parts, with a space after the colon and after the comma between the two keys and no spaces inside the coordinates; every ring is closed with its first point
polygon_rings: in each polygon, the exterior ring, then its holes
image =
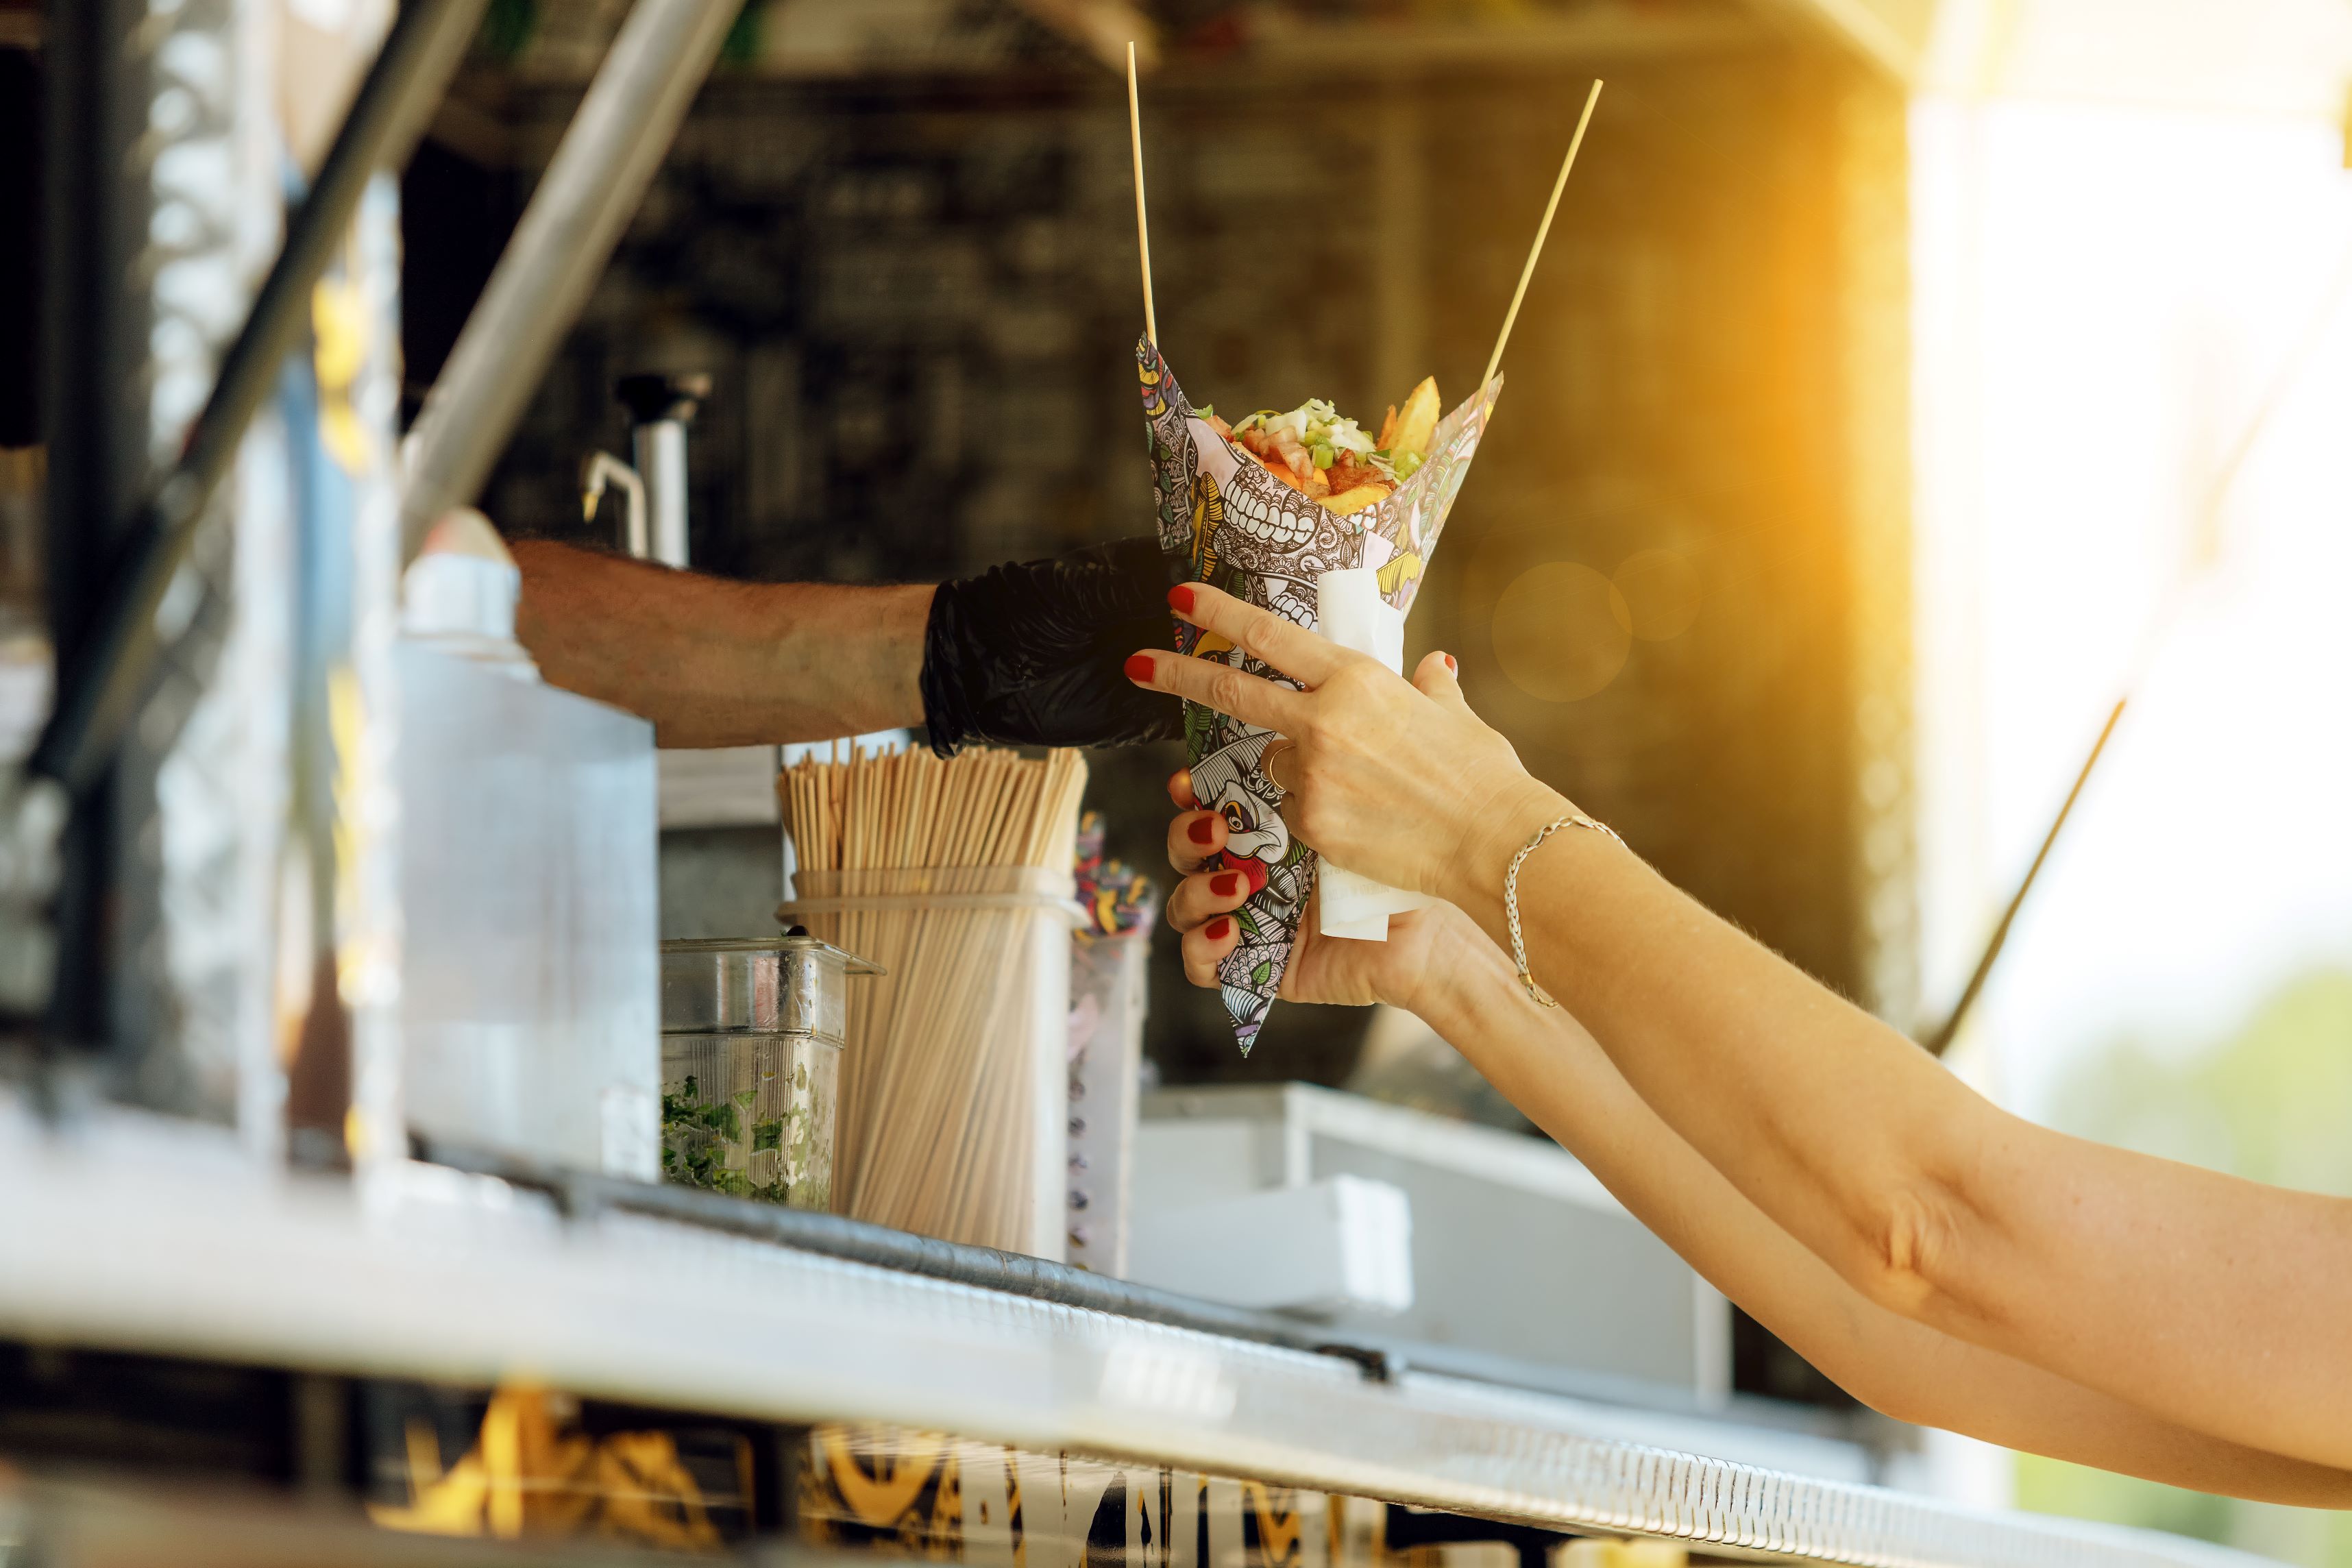
{"type": "MultiPolygon", "coordinates": [[[[1138,684],[1291,738],[1296,832],[1508,940],[1503,872],[1571,806],[1446,663],[1416,686],[1214,588],[1171,604],[1305,684],[1174,654],[1138,684]]],[[[1522,875],[1538,980],[1684,1140],[1872,1302],[2164,1420],[2352,1467],[2352,1201],[2004,1114],[1595,832],[1522,875]]]]}

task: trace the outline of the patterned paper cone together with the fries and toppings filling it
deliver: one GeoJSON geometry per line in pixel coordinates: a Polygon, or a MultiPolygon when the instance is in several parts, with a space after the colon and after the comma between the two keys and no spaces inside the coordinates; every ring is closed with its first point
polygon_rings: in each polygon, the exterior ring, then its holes
{"type": "MultiPolygon", "coordinates": [[[[1214,583],[1315,630],[1315,578],[1371,567],[1381,597],[1404,614],[1461,494],[1503,378],[1444,418],[1437,383],[1423,381],[1388,411],[1376,435],[1310,400],[1287,414],[1258,411],[1230,425],[1192,409],[1145,336],[1136,343],[1143,418],[1150,430],[1160,545],[1195,583],[1214,583]]],[[[1221,637],[1176,625],[1176,651],[1221,658],[1296,686],[1221,637]]],[[[1265,776],[1268,729],[1185,703],[1192,795],[1225,818],[1225,863],[1256,893],[1235,919],[1242,943],[1218,969],[1242,1056],[1258,1039],[1291,943],[1315,891],[1315,851],[1284,825],[1282,790],[1265,776]]]]}

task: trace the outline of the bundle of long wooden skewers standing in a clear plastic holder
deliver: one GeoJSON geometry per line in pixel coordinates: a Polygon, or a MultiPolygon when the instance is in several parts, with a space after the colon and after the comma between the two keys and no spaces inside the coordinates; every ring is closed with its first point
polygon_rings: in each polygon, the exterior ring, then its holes
{"type": "Polygon", "coordinates": [[[849,994],[835,1211],[1061,1255],[1077,752],[854,752],[776,792],[790,919],[887,969],[849,994]]]}

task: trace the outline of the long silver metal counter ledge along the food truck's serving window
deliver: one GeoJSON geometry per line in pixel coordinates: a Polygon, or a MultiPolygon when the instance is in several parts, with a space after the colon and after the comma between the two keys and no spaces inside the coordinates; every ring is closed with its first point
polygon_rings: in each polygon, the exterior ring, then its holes
{"type": "Polygon", "coordinates": [[[1912,1568],[2251,1563],[1872,1488],[1863,1450],[1138,1321],[437,1166],[353,1187],[226,1133],[0,1107],[0,1335],[365,1375],[510,1375],[873,1420],[1564,1528],[1912,1568]],[[682,1333],[682,1324],[694,1324],[682,1333]],[[1846,1479],[1842,1479],[1846,1476],[1846,1479]]]}

